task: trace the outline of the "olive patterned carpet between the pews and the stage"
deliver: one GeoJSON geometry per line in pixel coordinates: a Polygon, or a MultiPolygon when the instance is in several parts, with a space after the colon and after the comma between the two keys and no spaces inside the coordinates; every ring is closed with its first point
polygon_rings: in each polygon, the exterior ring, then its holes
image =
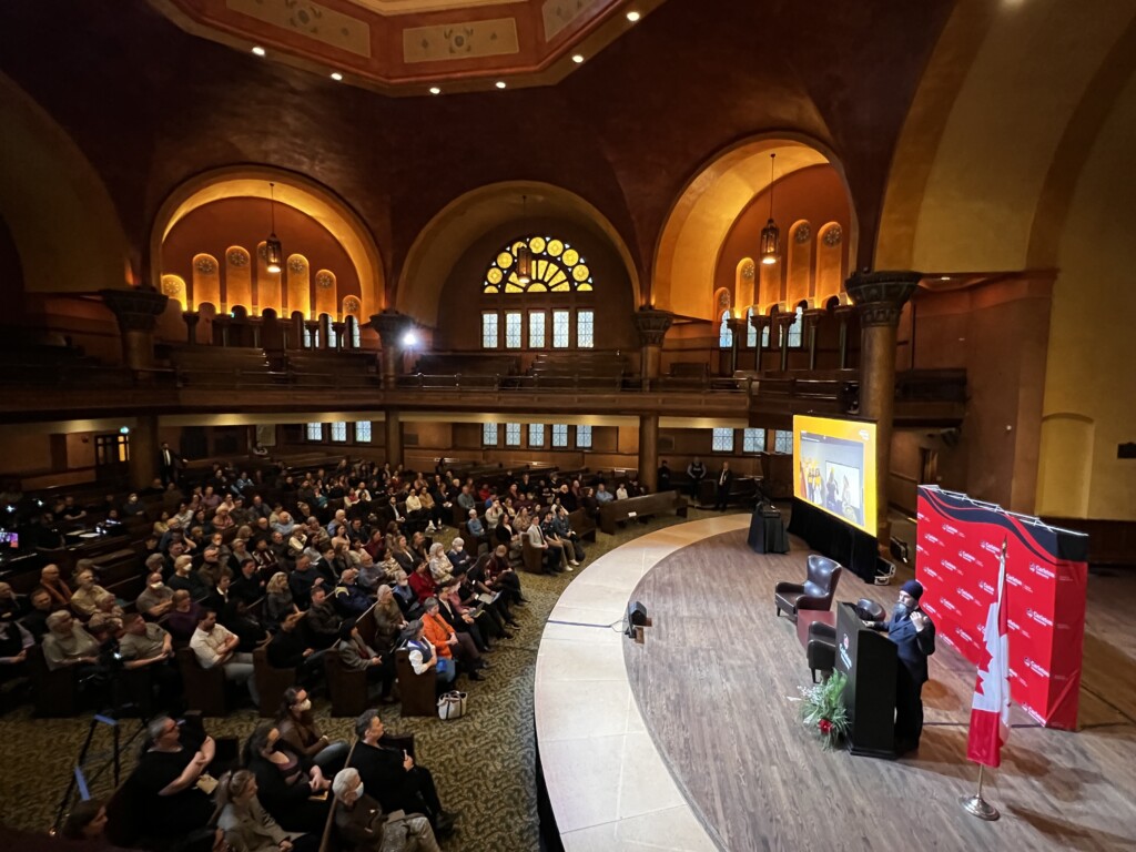
{"type": "MultiPolygon", "coordinates": [[[[708,512],[691,510],[691,519],[708,512]]],[[[644,533],[683,523],[667,516],[646,524],[629,524],[616,535],[596,534],[587,544],[586,567],[593,559],[644,533]]],[[[446,545],[453,533],[441,537],[446,545]]],[[[536,649],[544,621],[565,586],[578,576],[537,576],[523,574],[527,607],[516,609],[521,624],[512,640],[494,645],[488,659],[492,668],[482,683],[461,678],[460,688],[469,692],[469,712],[456,721],[403,719],[399,708],[381,708],[383,721],[395,733],[414,733],[418,760],[429,767],[446,809],[460,810],[458,830],[442,847],[446,852],[535,852],[540,849],[536,816],[536,749],[533,741],[533,678],[536,649]]],[[[328,736],[351,737],[350,719],[328,716],[326,699],[316,699],[316,711],[328,736]]],[[[69,780],[70,768],[83,744],[90,716],[75,719],[33,719],[23,707],[0,718],[0,824],[28,832],[47,830],[69,780]]],[[[242,740],[256,727],[252,709],[225,719],[208,719],[206,728],[214,736],[242,740]]],[[[123,741],[137,724],[123,724],[123,741]]],[[[99,726],[92,752],[107,755],[108,728],[99,726]]],[[[141,743],[141,738],[136,744],[141,743]]],[[[133,767],[136,747],[125,750],[124,777],[133,767]]],[[[97,768],[106,763],[92,761],[97,768]]],[[[92,784],[94,795],[111,791],[108,769],[92,784]]]]}

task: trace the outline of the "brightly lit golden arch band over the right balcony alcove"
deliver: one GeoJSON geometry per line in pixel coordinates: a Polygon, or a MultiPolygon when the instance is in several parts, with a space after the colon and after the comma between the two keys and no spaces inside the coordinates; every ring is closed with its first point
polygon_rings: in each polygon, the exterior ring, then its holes
{"type": "MultiPolygon", "coordinates": [[[[777,179],[821,164],[836,169],[849,198],[843,166],[832,150],[800,134],[762,134],[716,153],[691,176],[667,215],[655,247],[652,303],[684,316],[705,314],[722,242],[753,198],[769,186],[769,154],[777,153],[777,179]]],[[[850,227],[855,231],[854,204],[850,227]]],[[[851,243],[855,245],[855,242],[851,243]]],[[[854,265],[854,258],[852,258],[854,265]]],[[[778,273],[780,265],[777,265],[778,273]]],[[[784,298],[782,295],[778,299],[784,298]]],[[[762,293],[755,301],[766,303],[762,293]]]]}

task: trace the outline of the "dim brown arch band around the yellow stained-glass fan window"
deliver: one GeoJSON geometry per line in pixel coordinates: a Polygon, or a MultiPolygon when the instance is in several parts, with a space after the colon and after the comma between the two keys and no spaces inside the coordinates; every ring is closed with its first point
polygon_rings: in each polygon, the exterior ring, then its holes
{"type": "Polygon", "coordinates": [[[599,209],[554,184],[508,181],[465,193],[427,223],[407,252],[391,300],[394,308],[423,325],[435,325],[442,287],[461,254],[493,227],[516,222],[518,231],[524,231],[529,219],[567,222],[604,241],[618,254],[635,303],[641,303],[638,272],[627,243],[599,209]]]}

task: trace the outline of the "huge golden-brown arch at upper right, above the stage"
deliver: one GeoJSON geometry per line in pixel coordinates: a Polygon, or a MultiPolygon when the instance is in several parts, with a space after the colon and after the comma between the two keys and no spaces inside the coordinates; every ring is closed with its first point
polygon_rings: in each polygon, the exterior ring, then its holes
{"type": "Polygon", "coordinates": [[[961,0],[888,178],[876,267],[1050,266],[1096,130],[1136,69],[1136,5],[961,0]]]}

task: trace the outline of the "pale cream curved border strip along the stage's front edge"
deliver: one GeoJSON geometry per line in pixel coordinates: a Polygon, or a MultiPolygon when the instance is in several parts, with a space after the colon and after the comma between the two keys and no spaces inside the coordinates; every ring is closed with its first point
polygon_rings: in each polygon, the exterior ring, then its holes
{"type": "Polygon", "coordinates": [[[610,625],[658,562],[749,523],[727,515],[628,542],[580,571],[549,616],[536,657],[536,742],[568,852],[717,849],[646,730],[624,662],[630,640],[610,625]]]}

